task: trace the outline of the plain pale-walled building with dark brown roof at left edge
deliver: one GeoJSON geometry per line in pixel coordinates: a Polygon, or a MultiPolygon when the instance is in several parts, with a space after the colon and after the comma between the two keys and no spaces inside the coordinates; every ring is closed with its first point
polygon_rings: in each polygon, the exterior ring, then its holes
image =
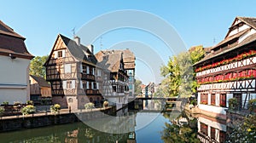
{"type": "Polygon", "coordinates": [[[33,56],[21,37],[0,20],[0,102],[29,100],[29,63],[33,56]]]}

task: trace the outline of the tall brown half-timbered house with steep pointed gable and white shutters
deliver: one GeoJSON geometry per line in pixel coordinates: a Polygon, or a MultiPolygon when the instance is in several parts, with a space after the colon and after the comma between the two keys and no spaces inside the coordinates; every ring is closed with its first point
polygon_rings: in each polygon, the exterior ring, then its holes
{"type": "Polygon", "coordinates": [[[102,70],[96,62],[92,45],[86,47],[79,37],[72,40],[59,34],[44,64],[53,103],[72,110],[84,108],[87,102],[101,106],[102,70]]]}

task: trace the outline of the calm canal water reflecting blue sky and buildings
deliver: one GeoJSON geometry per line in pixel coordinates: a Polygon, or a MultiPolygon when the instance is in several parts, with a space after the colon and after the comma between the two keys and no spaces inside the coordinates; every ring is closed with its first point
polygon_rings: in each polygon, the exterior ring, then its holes
{"type": "MultiPolygon", "coordinates": [[[[118,120],[96,119],[1,133],[0,142],[160,143],[200,142],[207,138],[205,134],[198,132],[203,132],[199,124],[211,122],[208,118],[191,117],[179,111],[165,112],[162,107],[163,104],[158,100],[146,100],[141,111],[127,108],[119,111],[118,120]],[[108,133],[103,132],[104,130],[108,133]]],[[[216,126],[222,127],[218,123],[216,126]]]]}

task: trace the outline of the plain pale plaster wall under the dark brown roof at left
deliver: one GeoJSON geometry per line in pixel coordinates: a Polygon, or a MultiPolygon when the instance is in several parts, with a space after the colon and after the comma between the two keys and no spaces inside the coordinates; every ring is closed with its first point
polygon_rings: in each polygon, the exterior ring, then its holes
{"type": "Polygon", "coordinates": [[[29,100],[29,63],[26,59],[0,56],[0,102],[13,104],[14,101],[26,103],[29,100]]]}

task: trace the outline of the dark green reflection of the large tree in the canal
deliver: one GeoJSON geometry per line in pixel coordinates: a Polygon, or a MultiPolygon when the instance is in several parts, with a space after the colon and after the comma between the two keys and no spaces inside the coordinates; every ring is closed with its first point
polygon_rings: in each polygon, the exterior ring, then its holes
{"type": "Polygon", "coordinates": [[[172,112],[164,113],[164,117],[169,118],[171,123],[165,123],[166,127],[161,132],[161,139],[166,143],[176,142],[200,142],[196,137],[196,118],[189,120],[183,112],[182,115],[173,119],[172,112]],[[185,122],[188,121],[188,122],[185,122]]]}

